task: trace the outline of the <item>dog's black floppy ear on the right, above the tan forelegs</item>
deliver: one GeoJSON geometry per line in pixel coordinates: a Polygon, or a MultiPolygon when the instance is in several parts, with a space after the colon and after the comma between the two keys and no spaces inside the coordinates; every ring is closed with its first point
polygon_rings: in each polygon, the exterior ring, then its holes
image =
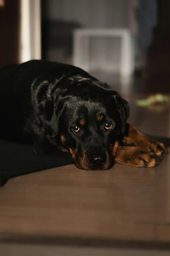
{"type": "Polygon", "coordinates": [[[125,124],[129,117],[129,103],[118,95],[114,95],[121,118],[121,132],[124,133],[125,124]]]}

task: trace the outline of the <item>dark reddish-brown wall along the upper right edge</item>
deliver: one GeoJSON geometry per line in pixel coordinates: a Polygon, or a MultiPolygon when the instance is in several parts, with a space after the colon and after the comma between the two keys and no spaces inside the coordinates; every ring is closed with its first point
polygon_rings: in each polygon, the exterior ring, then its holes
{"type": "Polygon", "coordinates": [[[170,92],[170,1],[158,0],[158,26],[148,51],[147,87],[150,92],[170,92]]]}

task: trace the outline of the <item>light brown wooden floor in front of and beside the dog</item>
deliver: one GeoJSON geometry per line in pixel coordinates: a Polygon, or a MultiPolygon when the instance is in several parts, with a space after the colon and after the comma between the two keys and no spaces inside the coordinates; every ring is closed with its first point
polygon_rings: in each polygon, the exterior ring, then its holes
{"type": "MultiPolygon", "coordinates": [[[[130,105],[131,124],[170,136],[168,108],[130,105]]],[[[156,168],[67,165],[10,179],[0,188],[0,241],[170,248],[170,156],[156,168]]]]}

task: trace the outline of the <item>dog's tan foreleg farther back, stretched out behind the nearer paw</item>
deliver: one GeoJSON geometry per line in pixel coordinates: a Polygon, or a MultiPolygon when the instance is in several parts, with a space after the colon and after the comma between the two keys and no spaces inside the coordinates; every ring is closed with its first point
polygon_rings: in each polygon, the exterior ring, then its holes
{"type": "Polygon", "coordinates": [[[165,156],[167,154],[163,143],[148,138],[130,124],[126,124],[123,142],[151,151],[157,156],[165,156]]]}

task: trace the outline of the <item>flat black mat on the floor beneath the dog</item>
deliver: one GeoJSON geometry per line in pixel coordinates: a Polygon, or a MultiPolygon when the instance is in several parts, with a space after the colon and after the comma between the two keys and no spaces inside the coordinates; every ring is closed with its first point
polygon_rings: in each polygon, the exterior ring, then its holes
{"type": "MultiPolygon", "coordinates": [[[[170,138],[149,136],[170,146],[170,138]]],[[[0,186],[8,179],[73,163],[71,155],[58,151],[56,155],[35,155],[32,145],[0,140],[0,186]]]]}

